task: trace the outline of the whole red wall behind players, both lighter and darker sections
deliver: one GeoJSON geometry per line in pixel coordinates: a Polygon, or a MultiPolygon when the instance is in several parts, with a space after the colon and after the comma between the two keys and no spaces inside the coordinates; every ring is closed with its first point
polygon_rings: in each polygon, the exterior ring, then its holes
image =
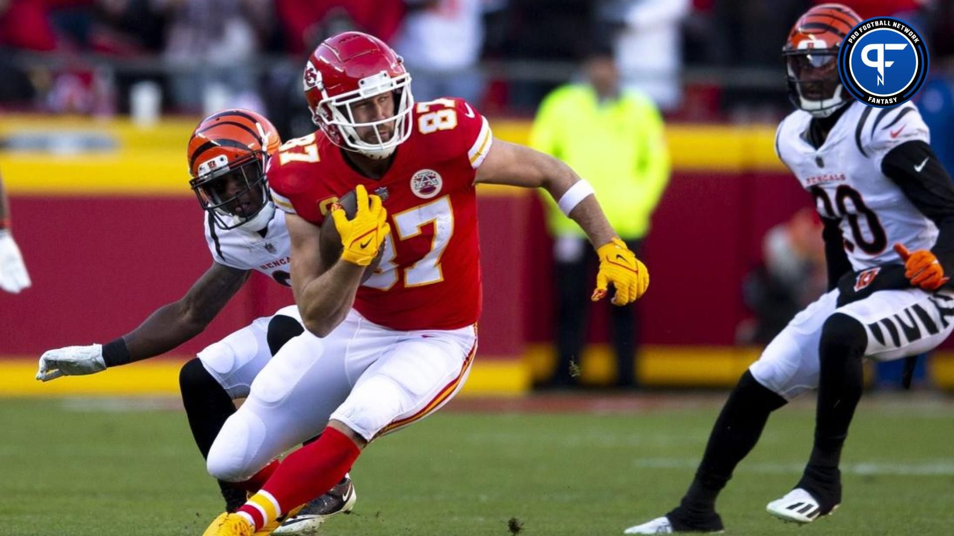
{"type": "MultiPolygon", "coordinates": [[[[747,315],[741,279],[762,236],[804,206],[810,198],[789,175],[675,174],[642,252],[652,274],[638,304],[642,341],[732,344],[747,315]]],[[[0,356],[124,334],[212,262],[191,197],[15,196],[11,211],[33,287],[0,294],[0,356]]],[[[512,359],[526,343],[550,340],[551,241],[535,196],[481,196],[479,214],[481,355],[512,359]]],[[[175,353],[195,353],[291,302],[289,289],[255,276],[175,353]]],[[[606,339],[606,307],[591,307],[591,340],[606,339]]]]}

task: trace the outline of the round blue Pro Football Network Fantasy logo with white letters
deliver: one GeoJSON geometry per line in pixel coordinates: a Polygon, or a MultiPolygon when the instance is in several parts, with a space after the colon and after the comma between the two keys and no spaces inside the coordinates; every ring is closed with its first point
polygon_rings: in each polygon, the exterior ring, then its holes
{"type": "Polygon", "coordinates": [[[845,36],[839,52],[841,84],[869,106],[907,102],[927,76],[927,46],[921,34],[893,17],[862,21],[845,36]]]}

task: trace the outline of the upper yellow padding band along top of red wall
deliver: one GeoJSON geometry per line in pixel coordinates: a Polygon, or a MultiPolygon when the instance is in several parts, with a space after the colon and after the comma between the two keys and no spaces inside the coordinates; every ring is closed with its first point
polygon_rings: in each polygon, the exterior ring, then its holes
{"type": "MultiPolygon", "coordinates": [[[[112,139],[115,149],[93,153],[0,151],[0,170],[14,195],[189,196],[186,143],[197,120],[166,118],[154,127],[140,128],[125,119],[7,115],[0,123],[0,137],[85,132],[112,139]]],[[[494,119],[491,128],[504,141],[526,143],[529,121],[494,119]]],[[[784,171],[775,155],[773,125],[670,125],[666,137],[676,172],[784,171]]],[[[480,192],[526,194],[515,188],[481,188],[480,192]]]]}

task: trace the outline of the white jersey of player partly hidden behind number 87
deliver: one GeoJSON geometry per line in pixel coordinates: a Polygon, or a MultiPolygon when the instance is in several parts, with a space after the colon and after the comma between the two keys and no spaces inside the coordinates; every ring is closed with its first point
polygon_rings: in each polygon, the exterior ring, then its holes
{"type": "Polygon", "coordinates": [[[208,215],[205,242],[219,264],[239,270],[257,270],[282,285],[291,286],[291,240],[285,227],[285,213],[275,211],[264,237],[242,226],[224,231],[216,227],[212,215],[208,215]]]}

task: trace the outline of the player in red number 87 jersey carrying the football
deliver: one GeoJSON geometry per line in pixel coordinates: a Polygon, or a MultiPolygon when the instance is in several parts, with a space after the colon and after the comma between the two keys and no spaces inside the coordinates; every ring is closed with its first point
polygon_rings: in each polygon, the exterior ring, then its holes
{"type": "MultiPolygon", "coordinates": [[[[306,332],[261,372],[222,427],[208,468],[237,482],[323,433],[289,455],[238,513],[219,516],[210,535],[252,534],[321,495],[367,443],[461,388],[481,311],[476,184],[546,189],[600,257],[593,299],[612,284],[612,302],[624,305],[649,285],[585,180],[549,155],[494,139],[487,119],[461,99],[415,103],[400,56],[379,39],[353,31],[327,39],[303,83],[320,131],[285,143],[268,180],[287,213],[306,332]],[[358,208],[349,219],[336,202],[351,190],[358,208]],[[325,224],[341,237],[340,258],[322,258],[325,224]],[[380,265],[362,283],[379,250],[380,265]]],[[[307,523],[291,518],[280,529],[307,523]]]]}

